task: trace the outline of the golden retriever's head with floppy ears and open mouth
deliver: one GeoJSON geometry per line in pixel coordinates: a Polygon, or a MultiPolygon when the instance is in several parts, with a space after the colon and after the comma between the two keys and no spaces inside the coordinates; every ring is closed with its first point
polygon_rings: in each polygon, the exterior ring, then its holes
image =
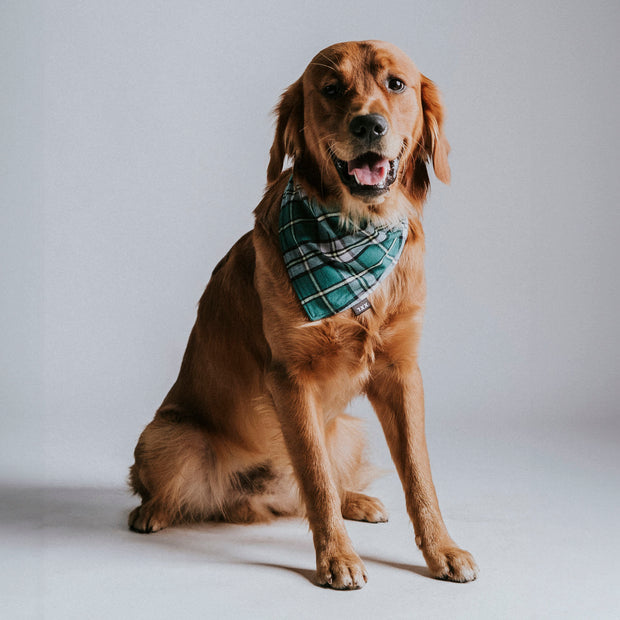
{"type": "Polygon", "coordinates": [[[337,202],[354,220],[391,218],[402,193],[421,205],[429,161],[440,181],[450,180],[439,92],[394,45],[324,49],[282,95],[276,114],[268,181],[288,156],[310,194],[337,202]]]}

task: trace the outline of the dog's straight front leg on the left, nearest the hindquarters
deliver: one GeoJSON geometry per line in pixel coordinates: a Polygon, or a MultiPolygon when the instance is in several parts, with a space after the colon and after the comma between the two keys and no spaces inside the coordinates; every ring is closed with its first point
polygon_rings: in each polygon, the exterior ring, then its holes
{"type": "Polygon", "coordinates": [[[271,367],[268,386],[306,504],[314,536],[317,581],[338,590],[361,588],[367,581],[366,569],[344,526],[312,390],[300,386],[286,367],[278,364],[271,367]]]}

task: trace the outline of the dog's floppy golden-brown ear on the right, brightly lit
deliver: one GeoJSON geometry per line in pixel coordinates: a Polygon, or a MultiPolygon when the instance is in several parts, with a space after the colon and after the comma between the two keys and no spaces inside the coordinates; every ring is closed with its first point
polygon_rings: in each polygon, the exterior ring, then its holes
{"type": "Polygon", "coordinates": [[[430,186],[426,164],[433,162],[435,176],[442,183],[450,183],[448,153],[450,144],[443,133],[444,111],[441,95],[435,84],[422,76],[421,99],[423,127],[422,136],[404,173],[405,187],[416,200],[424,200],[430,186]]]}

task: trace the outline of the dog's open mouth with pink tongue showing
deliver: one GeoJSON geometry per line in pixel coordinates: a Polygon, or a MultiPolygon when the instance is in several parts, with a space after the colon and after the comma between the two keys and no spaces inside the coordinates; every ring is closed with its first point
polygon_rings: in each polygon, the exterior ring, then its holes
{"type": "Polygon", "coordinates": [[[374,197],[387,192],[396,180],[400,156],[387,159],[377,153],[368,152],[344,161],[332,154],[332,160],[341,181],[351,194],[374,197]]]}

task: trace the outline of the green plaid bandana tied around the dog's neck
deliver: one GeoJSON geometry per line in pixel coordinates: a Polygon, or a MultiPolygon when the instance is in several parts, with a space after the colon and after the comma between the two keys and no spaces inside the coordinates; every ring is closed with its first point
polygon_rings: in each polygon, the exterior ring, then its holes
{"type": "Polygon", "coordinates": [[[299,301],[311,321],[353,308],[392,271],[405,246],[408,223],[343,228],[340,215],[309,199],[291,177],[280,210],[280,246],[299,301]]]}

